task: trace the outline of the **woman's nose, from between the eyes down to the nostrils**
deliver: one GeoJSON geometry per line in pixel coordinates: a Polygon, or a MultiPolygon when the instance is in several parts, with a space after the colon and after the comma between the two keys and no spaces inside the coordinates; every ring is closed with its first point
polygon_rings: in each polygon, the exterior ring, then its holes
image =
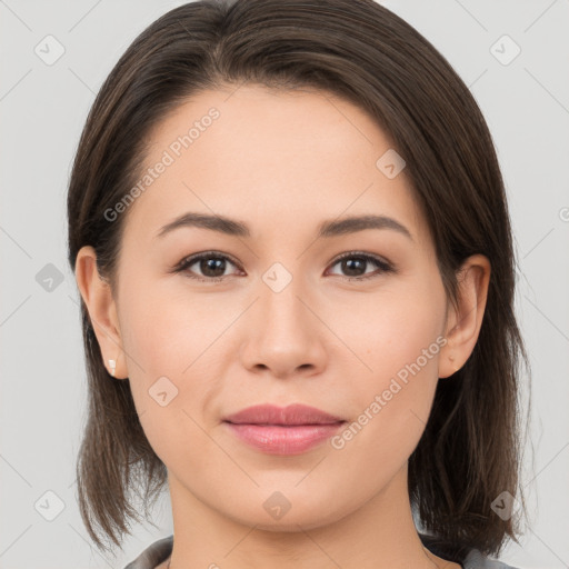
{"type": "Polygon", "coordinates": [[[315,295],[292,280],[280,291],[260,283],[259,298],[248,310],[240,349],[242,365],[251,372],[276,378],[312,376],[326,366],[326,337],[315,295]]]}

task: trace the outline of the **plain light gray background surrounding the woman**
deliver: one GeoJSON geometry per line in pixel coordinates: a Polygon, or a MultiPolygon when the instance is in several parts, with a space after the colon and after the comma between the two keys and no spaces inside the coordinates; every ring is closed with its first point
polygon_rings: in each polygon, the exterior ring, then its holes
{"type": "MultiPolygon", "coordinates": [[[[66,259],[66,192],[94,93],[134,37],[181,3],[0,0],[1,568],[121,568],[172,532],[167,493],[153,517],[161,529],[134,527],[117,558],[90,545],[79,517],[74,461],[86,375],[79,292],[66,259]],[[34,52],[48,34],[64,48],[50,66],[34,52]],[[46,274],[58,272],[61,282],[50,284],[46,274]],[[58,499],[63,509],[48,521],[58,499]]],[[[532,526],[522,547],[509,546],[501,559],[569,567],[569,1],[382,3],[447,57],[498,149],[533,375],[525,479],[532,526]],[[501,48],[502,40],[491,51],[503,34],[521,49],[508,64],[496,50],[508,58],[513,44],[501,48]]]]}

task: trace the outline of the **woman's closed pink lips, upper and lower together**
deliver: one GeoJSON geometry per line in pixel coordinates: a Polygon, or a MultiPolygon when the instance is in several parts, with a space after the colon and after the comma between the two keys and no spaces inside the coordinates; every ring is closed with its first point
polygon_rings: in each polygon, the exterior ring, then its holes
{"type": "Polygon", "coordinates": [[[330,438],[343,419],[305,405],[254,406],[224,422],[242,441],[270,455],[299,455],[330,438]]]}

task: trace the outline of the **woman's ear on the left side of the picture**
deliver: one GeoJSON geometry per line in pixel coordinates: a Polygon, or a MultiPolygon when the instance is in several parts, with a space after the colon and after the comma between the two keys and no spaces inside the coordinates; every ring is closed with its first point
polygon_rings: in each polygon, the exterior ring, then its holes
{"type": "Polygon", "coordinates": [[[97,253],[90,246],[82,247],[77,253],[76,280],[89,312],[107,371],[110,376],[113,375],[109,360],[114,360],[114,377],[126,379],[128,370],[122,352],[117,307],[110,283],[99,274],[97,253]]]}

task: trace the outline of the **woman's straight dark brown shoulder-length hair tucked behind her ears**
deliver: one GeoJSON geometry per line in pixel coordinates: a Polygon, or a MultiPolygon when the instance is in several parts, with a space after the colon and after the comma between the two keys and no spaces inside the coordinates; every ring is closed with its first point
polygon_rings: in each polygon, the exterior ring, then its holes
{"type": "MultiPolygon", "coordinates": [[[[204,90],[240,84],[317,89],[365,110],[406,160],[403,174],[428,222],[447,298],[471,254],[491,263],[478,341],[439,381],[425,432],[409,458],[408,490],[426,539],[446,559],[497,555],[518,542],[518,516],[492,511],[503,491],[521,499],[520,362],[516,260],[492,139],[475,98],[417,30],[372,0],[200,0],[167,12],[138,36],[103,82],[84,124],[68,193],[69,262],[92,246],[116,290],[128,212],[109,222],[140,177],[151,129],[204,90]],[[519,488],[518,488],[519,487],[519,488]]],[[[167,469],[139,421],[129,381],[107,372],[86,305],[81,319],[88,418],[78,455],[80,513],[90,537],[120,546],[137,492],[148,508],[167,469]],[[140,493],[139,489],[142,489],[140,493]]],[[[148,509],[144,517],[148,521],[148,509]]],[[[421,538],[422,539],[422,538],[421,538]]]]}

